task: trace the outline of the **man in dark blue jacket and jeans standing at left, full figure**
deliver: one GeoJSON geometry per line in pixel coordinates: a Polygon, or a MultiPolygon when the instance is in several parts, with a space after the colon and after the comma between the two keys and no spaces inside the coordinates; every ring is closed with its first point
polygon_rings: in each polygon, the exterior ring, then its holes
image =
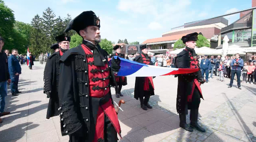
{"type": "Polygon", "coordinates": [[[12,55],[8,58],[8,67],[9,67],[9,73],[11,76],[12,96],[18,96],[18,94],[21,93],[18,90],[18,82],[19,82],[19,76],[21,74],[21,67],[20,67],[18,58],[16,58],[17,55],[18,55],[18,50],[12,49],[12,55]]]}

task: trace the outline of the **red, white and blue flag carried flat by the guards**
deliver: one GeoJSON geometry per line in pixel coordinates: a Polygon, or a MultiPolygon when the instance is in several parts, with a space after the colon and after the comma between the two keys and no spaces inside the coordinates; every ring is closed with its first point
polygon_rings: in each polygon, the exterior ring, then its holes
{"type": "MultiPolygon", "coordinates": [[[[114,56],[114,58],[119,58],[114,56]]],[[[121,60],[119,72],[116,76],[128,76],[128,77],[151,77],[151,76],[167,76],[174,74],[186,74],[197,72],[199,69],[178,69],[178,68],[167,68],[161,66],[153,66],[141,64],[138,62],[130,61],[124,58],[121,60]]],[[[110,59],[111,60],[111,59],[110,59]]],[[[111,61],[109,61],[111,64],[111,61]]]]}

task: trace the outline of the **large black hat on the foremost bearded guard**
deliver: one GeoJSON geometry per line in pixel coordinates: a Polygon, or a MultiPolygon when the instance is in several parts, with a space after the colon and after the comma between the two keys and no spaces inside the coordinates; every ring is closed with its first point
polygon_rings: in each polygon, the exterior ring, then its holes
{"type": "Polygon", "coordinates": [[[71,29],[76,31],[79,36],[79,31],[88,26],[97,26],[100,28],[100,19],[93,11],[84,11],[69,22],[64,32],[69,32],[71,29]]]}

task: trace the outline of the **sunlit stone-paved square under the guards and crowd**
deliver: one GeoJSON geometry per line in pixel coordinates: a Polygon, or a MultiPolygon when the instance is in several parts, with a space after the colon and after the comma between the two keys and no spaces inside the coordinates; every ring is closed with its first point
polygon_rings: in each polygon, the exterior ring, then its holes
{"type": "MultiPolygon", "coordinates": [[[[35,62],[33,70],[29,70],[22,65],[19,96],[11,96],[8,86],[5,111],[11,114],[1,117],[0,142],[69,141],[68,136],[61,136],[58,116],[46,119],[49,99],[43,94],[44,66],[35,62]]],[[[124,112],[118,114],[123,137],[120,142],[256,142],[256,85],[242,83],[239,90],[236,81],[233,88],[228,88],[228,78],[224,82],[217,78],[201,86],[205,100],[199,107],[199,124],[207,131],[191,133],[179,127],[177,78],[154,78],[155,96],[149,102],[153,109],[145,111],[133,98],[135,77],[128,77],[128,85],[121,91],[124,97],[116,98],[111,89],[114,101],[126,101],[121,106],[124,112]]]]}

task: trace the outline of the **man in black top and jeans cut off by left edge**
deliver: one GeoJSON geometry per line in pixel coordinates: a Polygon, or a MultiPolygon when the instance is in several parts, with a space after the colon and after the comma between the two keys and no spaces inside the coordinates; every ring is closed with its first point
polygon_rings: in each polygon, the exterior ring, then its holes
{"type": "MultiPolygon", "coordinates": [[[[3,50],[4,38],[0,36],[0,117],[10,114],[10,112],[4,112],[5,97],[7,96],[7,82],[11,82],[9,71],[7,54],[3,50]]],[[[0,123],[3,120],[0,118],[0,123]]]]}

